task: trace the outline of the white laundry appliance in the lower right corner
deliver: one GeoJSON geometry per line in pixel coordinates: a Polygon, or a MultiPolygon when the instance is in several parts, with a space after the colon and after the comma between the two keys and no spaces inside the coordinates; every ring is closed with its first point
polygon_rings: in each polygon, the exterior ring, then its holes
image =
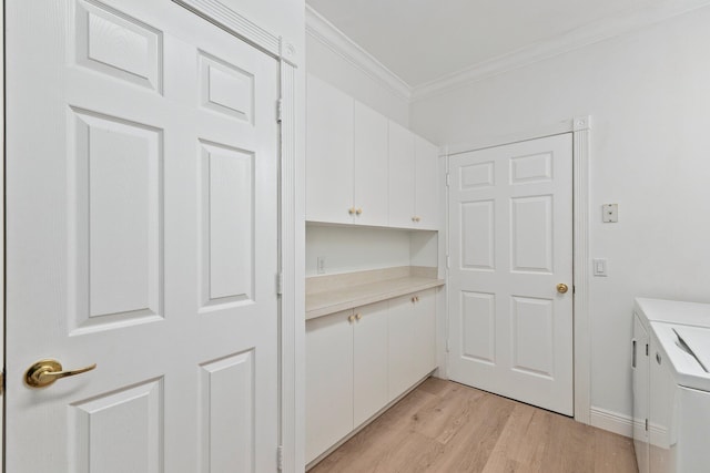
{"type": "Polygon", "coordinates": [[[710,472],[710,305],[637,299],[632,343],[640,473],[710,472]]]}

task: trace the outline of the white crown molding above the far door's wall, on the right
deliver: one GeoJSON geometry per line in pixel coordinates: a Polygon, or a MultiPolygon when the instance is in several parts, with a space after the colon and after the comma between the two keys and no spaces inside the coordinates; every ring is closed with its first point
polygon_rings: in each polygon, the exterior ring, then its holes
{"type": "Polygon", "coordinates": [[[628,10],[507,54],[479,62],[412,90],[412,102],[439,95],[473,82],[519,69],[546,59],[662,22],[710,4],[710,0],[663,0],[642,9],[628,10]]]}

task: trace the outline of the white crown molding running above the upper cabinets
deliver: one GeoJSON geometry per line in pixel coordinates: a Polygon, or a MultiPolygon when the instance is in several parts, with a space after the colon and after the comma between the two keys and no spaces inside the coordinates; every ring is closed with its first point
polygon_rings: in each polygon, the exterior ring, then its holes
{"type": "Polygon", "coordinates": [[[333,23],[306,4],[306,34],[320,41],[389,92],[409,101],[412,88],[333,23]]]}

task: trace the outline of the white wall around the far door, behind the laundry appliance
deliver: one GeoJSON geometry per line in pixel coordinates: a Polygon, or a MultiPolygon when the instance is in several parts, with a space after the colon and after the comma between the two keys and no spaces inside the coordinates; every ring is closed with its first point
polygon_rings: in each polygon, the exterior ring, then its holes
{"type": "Polygon", "coordinates": [[[465,144],[591,115],[591,403],[631,413],[636,296],[710,301],[710,8],[412,106],[413,128],[465,144]],[[619,204],[619,223],[601,205],[619,204]]]}

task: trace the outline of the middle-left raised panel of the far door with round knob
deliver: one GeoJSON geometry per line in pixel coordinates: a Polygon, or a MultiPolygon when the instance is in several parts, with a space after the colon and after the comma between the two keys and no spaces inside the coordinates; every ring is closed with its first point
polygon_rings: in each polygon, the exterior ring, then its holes
{"type": "Polygon", "coordinates": [[[462,208],[462,269],[495,269],[494,200],[465,202],[462,208]],[[465,237],[464,237],[465,235],[465,237]]]}

